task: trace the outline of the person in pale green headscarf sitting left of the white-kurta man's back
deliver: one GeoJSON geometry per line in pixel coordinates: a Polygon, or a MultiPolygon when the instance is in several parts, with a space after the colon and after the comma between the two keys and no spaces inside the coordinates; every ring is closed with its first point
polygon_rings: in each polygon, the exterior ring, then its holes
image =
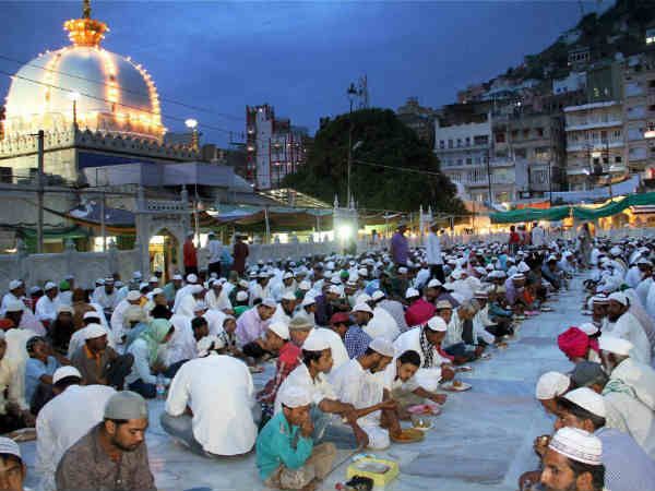
{"type": "MultiPolygon", "coordinates": [[[[157,374],[164,374],[165,367],[158,361],[162,345],[168,343],[175,327],[166,319],[155,319],[150,323],[136,339],[130,345],[127,352],[134,357],[132,371],[126,378],[130,391],[141,394],[145,398],[155,398],[157,395],[157,374]]],[[[168,385],[170,379],[164,378],[168,385]]]]}

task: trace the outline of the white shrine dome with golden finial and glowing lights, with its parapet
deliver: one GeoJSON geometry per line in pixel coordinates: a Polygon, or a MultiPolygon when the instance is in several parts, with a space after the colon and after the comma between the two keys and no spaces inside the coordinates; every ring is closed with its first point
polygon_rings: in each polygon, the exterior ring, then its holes
{"type": "Polygon", "coordinates": [[[0,167],[16,177],[36,168],[33,134],[39,130],[46,133],[45,171],[71,181],[85,167],[198,156],[188,147],[164,145],[154,81],[141,64],[100,46],[109,28],[91,19],[88,0],[82,19],[63,28],[70,46],[39,55],[12,77],[0,167]]]}

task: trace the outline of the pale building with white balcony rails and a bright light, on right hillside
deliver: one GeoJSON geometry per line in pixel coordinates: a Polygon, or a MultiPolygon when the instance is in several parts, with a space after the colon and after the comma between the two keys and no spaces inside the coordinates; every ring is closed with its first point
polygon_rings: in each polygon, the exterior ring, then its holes
{"type": "Polygon", "coordinates": [[[624,176],[623,106],[609,100],[564,108],[567,181],[585,190],[624,176]]]}

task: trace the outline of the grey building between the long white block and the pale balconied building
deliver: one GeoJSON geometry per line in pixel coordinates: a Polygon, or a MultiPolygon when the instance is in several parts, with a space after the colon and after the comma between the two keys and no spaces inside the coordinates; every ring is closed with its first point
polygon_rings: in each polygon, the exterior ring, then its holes
{"type": "Polygon", "coordinates": [[[493,117],[492,132],[491,167],[509,169],[510,176],[513,169],[517,197],[544,196],[561,189],[565,153],[560,111],[532,112],[516,107],[493,117]]]}

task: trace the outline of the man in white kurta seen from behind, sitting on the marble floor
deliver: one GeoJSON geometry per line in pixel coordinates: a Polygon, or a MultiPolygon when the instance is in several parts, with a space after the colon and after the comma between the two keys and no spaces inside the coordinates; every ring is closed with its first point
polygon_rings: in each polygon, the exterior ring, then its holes
{"type": "Polygon", "coordinates": [[[217,337],[201,339],[204,356],[184,363],[170,383],[162,427],[195,453],[240,455],[257,440],[254,386],[248,367],[218,355],[222,348],[217,337]]]}

